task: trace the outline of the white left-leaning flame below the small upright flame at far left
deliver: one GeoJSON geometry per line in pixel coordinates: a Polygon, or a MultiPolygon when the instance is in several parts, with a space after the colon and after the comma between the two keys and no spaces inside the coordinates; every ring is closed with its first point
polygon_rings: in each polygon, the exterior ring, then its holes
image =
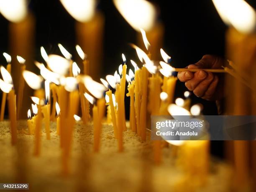
{"type": "Polygon", "coordinates": [[[32,89],[38,90],[41,88],[41,84],[43,81],[43,78],[41,76],[38,76],[33,72],[25,70],[23,71],[23,77],[27,82],[28,86],[32,89]]]}

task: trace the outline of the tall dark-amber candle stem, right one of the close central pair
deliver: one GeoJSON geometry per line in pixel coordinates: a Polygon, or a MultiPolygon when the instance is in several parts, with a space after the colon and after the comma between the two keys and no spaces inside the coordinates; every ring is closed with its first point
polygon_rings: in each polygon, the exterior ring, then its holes
{"type": "Polygon", "coordinates": [[[148,70],[146,67],[141,67],[141,115],[140,115],[140,129],[141,140],[146,141],[146,108],[147,108],[147,89],[148,89],[148,70]]]}

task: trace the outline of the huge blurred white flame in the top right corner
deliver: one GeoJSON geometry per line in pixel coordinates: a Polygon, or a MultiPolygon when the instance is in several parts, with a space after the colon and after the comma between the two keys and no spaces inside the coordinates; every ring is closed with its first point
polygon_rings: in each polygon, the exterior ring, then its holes
{"type": "Polygon", "coordinates": [[[256,27],[256,12],[244,0],[212,0],[221,19],[238,31],[250,33],[256,27]]]}

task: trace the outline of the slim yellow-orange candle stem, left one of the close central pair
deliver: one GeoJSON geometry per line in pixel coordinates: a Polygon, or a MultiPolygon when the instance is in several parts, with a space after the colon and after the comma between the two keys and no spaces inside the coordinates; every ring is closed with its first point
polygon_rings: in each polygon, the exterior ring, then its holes
{"type": "Polygon", "coordinates": [[[134,82],[135,82],[135,113],[136,113],[136,125],[137,125],[137,132],[138,136],[141,136],[141,129],[140,129],[140,113],[141,113],[141,80],[140,80],[140,72],[141,69],[135,71],[134,82]]]}

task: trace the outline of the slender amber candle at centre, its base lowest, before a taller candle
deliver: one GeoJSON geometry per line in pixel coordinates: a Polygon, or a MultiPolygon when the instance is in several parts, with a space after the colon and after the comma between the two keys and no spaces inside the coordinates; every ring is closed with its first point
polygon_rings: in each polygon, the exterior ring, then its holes
{"type": "Polygon", "coordinates": [[[118,152],[122,152],[123,151],[123,127],[122,127],[122,121],[121,121],[121,110],[119,108],[119,104],[120,104],[120,90],[121,90],[121,87],[120,85],[116,85],[116,88],[115,88],[115,99],[116,99],[116,102],[118,104],[118,109],[117,109],[117,128],[118,128],[118,152]]]}

